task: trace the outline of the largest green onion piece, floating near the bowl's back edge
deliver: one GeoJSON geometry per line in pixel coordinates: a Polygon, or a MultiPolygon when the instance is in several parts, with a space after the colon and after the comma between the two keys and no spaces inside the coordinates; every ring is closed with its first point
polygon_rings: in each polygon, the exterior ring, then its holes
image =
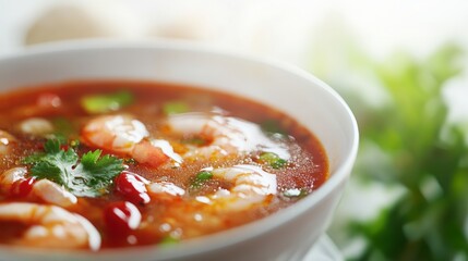
{"type": "Polygon", "coordinates": [[[133,103],[134,97],[127,90],[105,95],[85,96],[81,100],[82,107],[88,113],[106,113],[117,111],[133,103]]]}

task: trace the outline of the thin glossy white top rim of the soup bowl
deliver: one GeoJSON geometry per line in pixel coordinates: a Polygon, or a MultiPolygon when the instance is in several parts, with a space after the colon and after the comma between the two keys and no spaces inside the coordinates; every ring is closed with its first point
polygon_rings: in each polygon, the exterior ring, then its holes
{"type": "MultiPolygon", "coordinates": [[[[215,233],[213,235],[203,236],[200,238],[188,239],[183,243],[182,249],[180,248],[161,248],[157,246],[139,246],[132,248],[118,248],[118,249],[101,249],[98,252],[91,251],[69,251],[69,250],[58,250],[57,252],[63,253],[79,253],[79,254],[108,254],[108,253],[121,253],[124,251],[146,251],[157,252],[159,257],[164,258],[182,258],[190,254],[203,253],[207,251],[213,251],[216,249],[223,249],[228,246],[237,245],[241,241],[252,239],[261,236],[262,234],[267,233],[268,231],[275,228],[278,224],[287,223],[292,220],[295,216],[301,215],[307,212],[308,209],[315,206],[317,202],[323,200],[334,188],[336,188],[340,183],[345,182],[350,175],[350,171],[355,163],[358,146],[359,146],[359,129],[356,117],[351,112],[349,105],[345,100],[327,84],[312,75],[310,72],[304,71],[303,69],[298,67],[279,61],[273,58],[265,58],[255,54],[249,54],[245,52],[233,51],[230,49],[224,49],[219,47],[213,47],[207,45],[193,44],[192,41],[185,40],[139,40],[139,41],[129,41],[129,40],[115,40],[115,39],[93,39],[93,40],[67,40],[60,42],[51,44],[41,44],[33,47],[25,48],[24,50],[17,51],[15,53],[10,53],[3,57],[0,57],[0,66],[7,66],[9,62],[19,60],[19,59],[36,59],[37,57],[43,55],[68,55],[70,52],[74,51],[84,51],[93,52],[99,50],[145,50],[145,51],[189,51],[197,52],[203,55],[217,55],[224,57],[227,59],[239,59],[249,63],[255,63],[261,66],[274,67],[275,70],[280,70],[287,72],[296,77],[301,77],[307,79],[313,85],[324,89],[328,92],[329,96],[335,99],[339,105],[344,109],[352,130],[352,141],[350,142],[349,152],[345,156],[345,160],[341,164],[336,167],[333,173],[331,173],[329,178],[314,192],[296,202],[293,206],[281,209],[271,215],[267,215],[261,220],[230,228],[228,231],[223,231],[220,233],[215,233]],[[247,233],[248,232],[248,233],[247,233]],[[207,244],[209,243],[209,244],[207,244]],[[203,247],[200,247],[203,246],[203,247]]],[[[16,247],[13,247],[13,249],[16,247]]],[[[17,247],[21,251],[26,252],[41,252],[40,249],[31,249],[17,247]]],[[[0,252],[12,250],[12,246],[0,246],[0,252]]],[[[47,253],[47,250],[44,251],[47,253]]]]}

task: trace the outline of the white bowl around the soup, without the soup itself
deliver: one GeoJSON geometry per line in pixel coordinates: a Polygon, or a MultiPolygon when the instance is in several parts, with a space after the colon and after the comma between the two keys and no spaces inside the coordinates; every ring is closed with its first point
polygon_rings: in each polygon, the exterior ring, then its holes
{"type": "Polygon", "coordinates": [[[0,60],[0,91],[71,79],[176,82],[253,98],[285,111],[315,134],[328,156],[331,177],[273,215],[175,247],[92,253],[2,246],[1,260],[300,260],[329,225],[359,135],[345,101],[309,73],[181,42],[51,45],[0,60]]]}

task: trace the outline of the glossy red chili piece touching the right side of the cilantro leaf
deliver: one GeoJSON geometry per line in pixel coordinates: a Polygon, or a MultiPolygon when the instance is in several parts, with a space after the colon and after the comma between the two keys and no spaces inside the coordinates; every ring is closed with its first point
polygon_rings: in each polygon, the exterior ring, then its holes
{"type": "Polygon", "coordinates": [[[134,204],[148,203],[151,198],[147,194],[146,181],[144,177],[128,171],[123,171],[116,178],[116,189],[125,199],[134,204]]]}

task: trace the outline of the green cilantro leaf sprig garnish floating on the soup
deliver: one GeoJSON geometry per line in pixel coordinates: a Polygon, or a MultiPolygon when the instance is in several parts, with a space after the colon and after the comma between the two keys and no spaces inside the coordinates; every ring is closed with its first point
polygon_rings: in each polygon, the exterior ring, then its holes
{"type": "Polygon", "coordinates": [[[101,150],[86,152],[80,159],[72,148],[62,149],[57,139],[47,140],[44,152],[29,156],[23,162],[33,165],[32,176],[50,179],[79,197],[107,192],[113,177],[124,169],[122,160],[108,154],[101,157],[101,150]]]}

